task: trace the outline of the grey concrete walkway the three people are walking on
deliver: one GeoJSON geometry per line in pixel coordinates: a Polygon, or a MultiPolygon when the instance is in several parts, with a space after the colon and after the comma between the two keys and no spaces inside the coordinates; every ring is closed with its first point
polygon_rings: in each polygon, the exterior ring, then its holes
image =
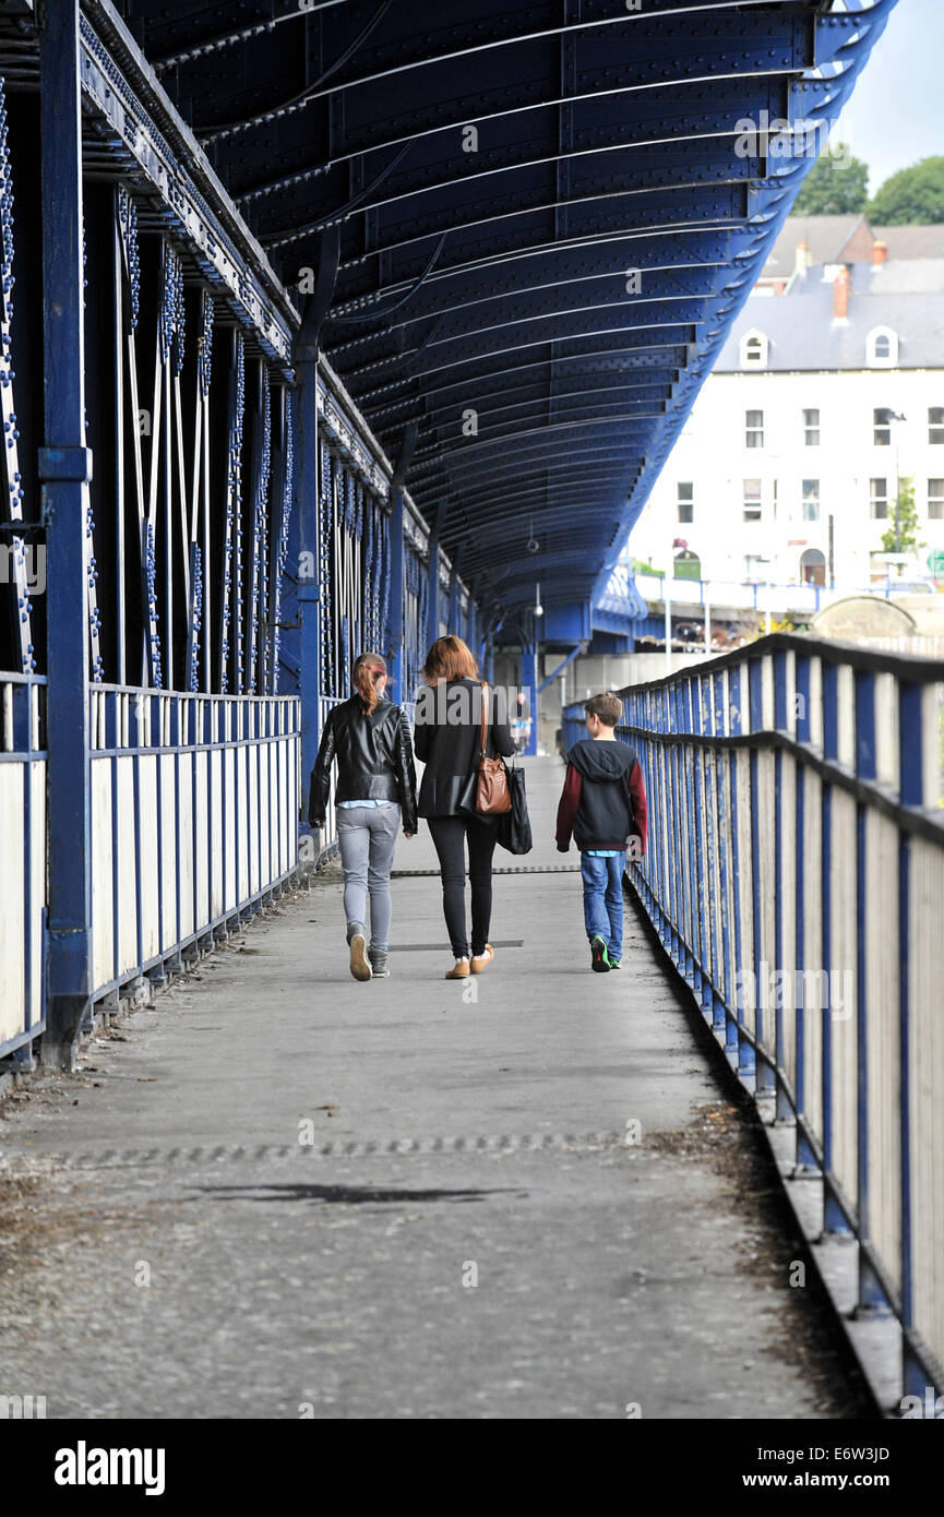
{"type": "MultiPolygon", "coordinates": [[[[589,972],[562,766],[527,768],[539,846],[496,856],[528,872],[496,878],[487,974],[442,978],[439,877],[405,874],[392,978],[355,983],[331,868],[0,1107],[0,1393],[49,1417],[862,1415],[631,909],[624,971],[589,972]]],[[[433,869],[425,830],[396,865],[433,869]]]]}

